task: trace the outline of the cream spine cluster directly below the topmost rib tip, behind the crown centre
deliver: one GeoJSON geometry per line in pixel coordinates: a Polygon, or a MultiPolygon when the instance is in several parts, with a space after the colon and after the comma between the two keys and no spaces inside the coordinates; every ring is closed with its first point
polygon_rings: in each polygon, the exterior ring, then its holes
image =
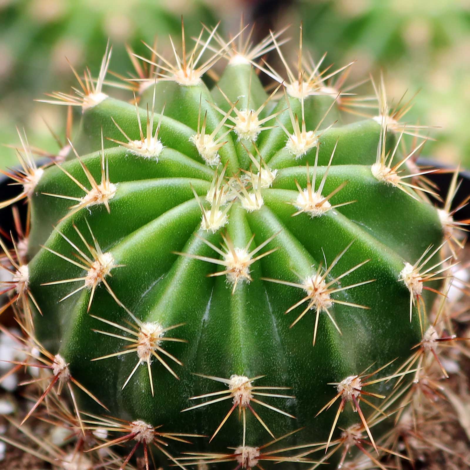
{"type": "Polygon", "coordinates": [[[227,113],[225,113],[223,110],[221,110],[218,106],[215,104],[212,104],[212,106],[219,111],[222,115],[227,116],[227,118],[233,122],[234,126],[230,127],[230,130],[234,130],[235,133],[238,136],[239,141],[256,141],[258,138],[258,135],[261,131],[264,131],[266,129],[272,129],[272,126],[263,126],[268,121],[271,121],[272,119],[276,118],[285,110],[280,110],[275,112],[274,114],[270,114],[269,116],[266,116],[266,118],[259,119],[259,115],[261,112],[266,108],[266,105],[270,102],[270,100],[274,97],[274,95],[277,93],[279,88],[282,86],[282,83],[279,84],[274,91],[266,98],[265,102],[261,104],[261,106],[258,107],[257,110],[252,110],[250,108],[250,95],[251,95],[251,76],[250,74],[250,84],[249,84],[249,89],[248,89],[248,103],[247,103],[247,108],[245,110],[238,110],[235,106],[236,103],[232,103],[228,96],[218,87],[219,92],[223,95],[223,97],[226,99],[227,103],[231,106],[231,110],[227,113]],[[232,118],[230,116],[230,113],[232,110],[235,111],[235,118],[232,118]]]}

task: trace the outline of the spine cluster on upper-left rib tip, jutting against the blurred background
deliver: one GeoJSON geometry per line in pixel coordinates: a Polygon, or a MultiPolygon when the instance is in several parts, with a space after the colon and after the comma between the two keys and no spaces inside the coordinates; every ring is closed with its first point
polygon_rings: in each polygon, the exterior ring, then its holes
{"type": "Polygon", "coordinates": [[[49,103],[49,104],[59,104],[65,106],[81,106],[82,112],[93,108],[97,104],[101,103],[103,100],[108,98],[107,94],[102,92],[102,87],[104,84],[104,79],[106,77],[106,73],[108,71],[108,67],[110,65],[111,60],[111,52],[112,47],[110,47],[110,43],[106,45],[106,51],[103,55],[100,67],[100,73],[98,75],[98,79],[96,80],[96,86],[94,85],[94,80],[91,76],[91,72],[88,68],[84,73],[85,82],[80,78],[77,71],[73,68],[73,66],[69,63],[75,78],[77,78],[78,84],[80,85],[81,90],[78,88],[74,88],[75,95],[73,94],[66,94],[61,92],[54,92],[51,94],[47,94],[54,100],[37,100],[42,103],[49,103]]]}

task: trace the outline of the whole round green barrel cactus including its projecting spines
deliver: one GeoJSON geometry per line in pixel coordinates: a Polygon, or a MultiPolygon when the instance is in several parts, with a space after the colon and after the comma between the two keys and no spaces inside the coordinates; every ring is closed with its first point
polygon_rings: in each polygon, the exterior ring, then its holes
{"type": "Polygon", "coordinates": [[[2,242],[8,303],[45,373],[24,421],[70,403],[87,450],[121,468],[334,468],[356,447],[378,462],[412,348],[437,344],[426,311],[456,237],[408,165],[422,143],[403,152],[418,131],[383,86],[374,118],[345,123],[368,105],[348,66],[247,35],[205,28],[189,50],[183,31],[174,60],[149,47],[136,60],[157,74],[131,103],[103,91],[108,48],[97,80],[46,100],[81,115],[67,159],[37,167],[24,137],[10,173],[23,192],[2,206],[26,199],[31,232],[23,256],[2,242]]]}

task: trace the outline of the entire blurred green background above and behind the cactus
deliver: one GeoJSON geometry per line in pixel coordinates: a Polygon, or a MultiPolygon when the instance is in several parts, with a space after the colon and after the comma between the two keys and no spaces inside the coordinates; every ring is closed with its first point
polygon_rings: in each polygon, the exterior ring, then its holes
{"type": "MultiPolygon", "coordinates": [[[[141,39],[157,35],[159,50],[168,51],[168,34],[180,38],[181,15],[188,36],[219,19],[221,31],[236,33],[242,12],[256,20],[258,39],[292,24],[285,46],[292,62],[302,20],[314,59],[328,51],[325,64],[357,60],[351,82],[382,69],[390,99],[421,89],[405,120],[440,126],[423,154],[470,167],[470,0],[0,0],[0,143],[17,143],[19,125],[31,144],[55,151],[42,118],[63,136],[66,110],[33,99],[70,91],[65,57],[96,75],[110,38],[110,70],[125,75],[132,69],[125,43],[146,54],[141,39]]],[[[14,162],[13,150],[2,149],[0,168],[14,162]]]]}

